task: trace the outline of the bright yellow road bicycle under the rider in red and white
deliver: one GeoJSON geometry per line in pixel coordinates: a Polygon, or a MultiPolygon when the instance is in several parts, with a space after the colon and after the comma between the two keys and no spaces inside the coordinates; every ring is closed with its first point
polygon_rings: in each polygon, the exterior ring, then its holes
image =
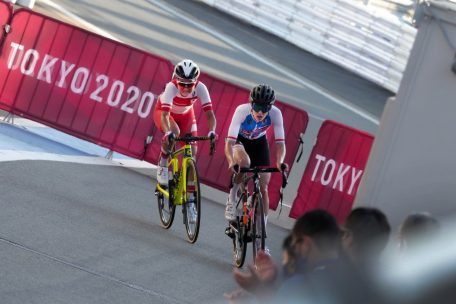
{"type": "Polygon", "coordinates": [[[168,163],[168,185],[157,183],[157,196],[160,221],[165,229],[169,229],[174,221],[176,206],[182,206],[182,215],[187,233],[187,240],[195,243],[198,239],[201,222],[201,196],[198,179],[198,169],[192,157],[190,143],[194,141],[210,140],[212,155],[215,151],[215,137],[211,136],[184,136],[172,139],[171,160],[168,163]],[[175,142],[184,142],[184,146],[175,150],[175,142]],[[179,168],[179,158],[182,155],[182,164],[179,168]]]}

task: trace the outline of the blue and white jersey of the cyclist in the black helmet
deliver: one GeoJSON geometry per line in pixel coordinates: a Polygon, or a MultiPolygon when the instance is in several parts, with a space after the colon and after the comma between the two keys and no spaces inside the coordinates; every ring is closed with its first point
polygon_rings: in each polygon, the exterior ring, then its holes
{"type": "Polygon", "coordinates": [[[282,112],[279,108],[272,106],[265,119],[259,122],[253,118],[251,111],[250,103],[242,104],[236,108],[228,129],[228,140],[236,140],[238,135],[247,139],[257,139],[264,136],[269,127],[272,126],[275,141],[285,142],[282,112]]]}

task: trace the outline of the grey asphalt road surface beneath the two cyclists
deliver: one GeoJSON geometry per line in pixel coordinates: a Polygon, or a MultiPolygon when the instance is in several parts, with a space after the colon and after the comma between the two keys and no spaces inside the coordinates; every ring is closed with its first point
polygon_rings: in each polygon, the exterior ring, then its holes
{"type": "MultiPolygon", "coordinates": [[[[191,245],[180,211],[161,228],[145,175],[47,161],[0,170],[1,303],[218,303],[235,288],[222,205],[202,202],[191,245]]],[[[275,257],[286,234],[269,226],[275,257]]]]}

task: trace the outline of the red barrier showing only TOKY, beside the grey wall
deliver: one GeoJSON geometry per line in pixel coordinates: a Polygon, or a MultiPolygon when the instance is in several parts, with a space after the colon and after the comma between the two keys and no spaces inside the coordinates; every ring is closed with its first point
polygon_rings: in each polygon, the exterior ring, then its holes
{"type": "Polygon", "coordinates": [[[350,212],[374,137],[325,121],[318,133],[290,217],[322,208],[343,222],[350,212]]]}

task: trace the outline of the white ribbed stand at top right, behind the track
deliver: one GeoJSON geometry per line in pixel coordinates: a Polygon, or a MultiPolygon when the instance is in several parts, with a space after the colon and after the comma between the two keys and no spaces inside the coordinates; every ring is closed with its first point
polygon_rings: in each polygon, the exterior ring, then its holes
{"type": "Polygon", "coordinates": [[[416,29],[352,0],[202,0],[397,92],[416,29]]]}

